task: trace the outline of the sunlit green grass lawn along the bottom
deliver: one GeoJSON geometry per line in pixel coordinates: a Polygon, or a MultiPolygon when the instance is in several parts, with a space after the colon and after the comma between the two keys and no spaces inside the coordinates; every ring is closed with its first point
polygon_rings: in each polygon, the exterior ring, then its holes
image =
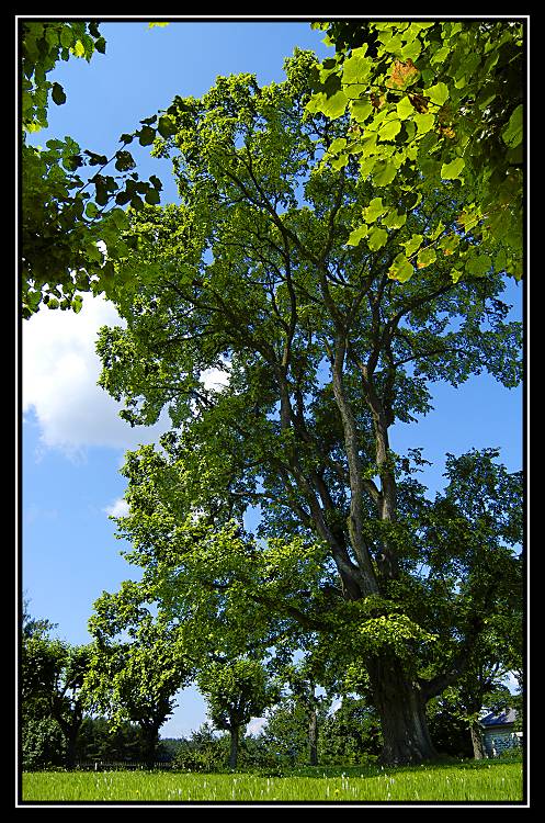
{"type": "Polygon", "coordinates": [[[522,801],[522,763],[307,767],[252,773],[42,771],[22,776],[23,801],[522,801]]]}

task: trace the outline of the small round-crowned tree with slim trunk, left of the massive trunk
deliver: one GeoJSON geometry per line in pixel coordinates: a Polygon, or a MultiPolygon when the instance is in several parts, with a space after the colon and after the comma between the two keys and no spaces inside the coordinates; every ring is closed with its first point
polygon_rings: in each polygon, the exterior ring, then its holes
{"type": "Polygon", "coordinates": [[[279,690],[269,681],[260,662],[242,657],[211,663],[198,674],[197,685],[206,699],[212,722],[229,732],[229,766],[235,769],[240,730],[277,700],[279,690]]]}

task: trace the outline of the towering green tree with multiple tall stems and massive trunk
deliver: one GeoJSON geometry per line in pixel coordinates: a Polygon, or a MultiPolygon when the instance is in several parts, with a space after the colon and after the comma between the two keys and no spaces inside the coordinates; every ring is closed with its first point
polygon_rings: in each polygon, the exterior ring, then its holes
{"type": "MultiPolygon", "coordinates": [[[[172,156],[181,204],[133,214],[134,252],[110,292],[126,327],[99,342],[124,418],[151,424],[168,407],[172,420],[162,450],[127,458],[121,531],[147,596],[188,619],[200,609],[213,627],[227,598],[239,643],[243,601],[246,628],[269,627],[263,643],[298,625],[322,657],[352,650],[385,759],[419,762],[434,753],[425,701],[459,675],[490,597],[487,584],[446,615],[457,625],[435,643],[420,607],[441,599],[428,598],[411,519],[420,452],[396,455],[389,432],[431,410],[432,382],[487,371],[515,386],[521,329],[487,237],[459,224],[456,180],[407,164],[394,185],[386,161],[366,176],[352,156],[327,161],[350,116],[309,111],[316,67],[296,52],[284,82],[218,78],[168,110],[177,133],[155,151],[172,156]],[[228,525],[250,505],[268,543],[228,525]]],[[[377,137],[393,150],[397,138],[377,137]]]]}

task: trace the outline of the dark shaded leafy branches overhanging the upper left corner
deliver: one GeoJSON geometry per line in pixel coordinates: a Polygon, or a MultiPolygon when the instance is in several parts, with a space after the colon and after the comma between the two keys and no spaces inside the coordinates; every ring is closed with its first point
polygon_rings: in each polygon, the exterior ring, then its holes
{"type": "Polygon", "coordinates": [[[114,261],[127,258],[121,234],[132,210],[160,201],[162,183],[155,174],[139,180],[127,145],[150,145],[170,133],[167,116],[140,121],[106,156],[82,150],[69,136],[29,144],[27,134],[46,128],[47,109],[66,102],[61,86],[47,79],[59,59],[90,60],[106,44],[94,22],[21,23],[22,176],[21,285],[22,314],[29,318],[41,305],[81,309],[83,292],[107,292],[114,261]],[[157,122],[157,127],[154,125],[157,122]],[[113,169],[112,169],[113,166],[113,169]]]}

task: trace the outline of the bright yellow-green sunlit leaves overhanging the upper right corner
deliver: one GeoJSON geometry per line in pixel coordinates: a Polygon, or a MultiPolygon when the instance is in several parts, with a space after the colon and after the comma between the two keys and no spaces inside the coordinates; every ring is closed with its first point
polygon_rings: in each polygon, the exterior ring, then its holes
{"type": "MultiPolygon", "coordinates": [[[[402,188],[413,170],[430,187],[454,181],[459,229],[493,248],[486,261],[462,261],[459,272],[479,277],[493,260],[520,279],[524,23],[338,21],[314,26],[327,31],[326,43],[336,46],[336,55],[315,68],[307,111],[332,121],[350,114],[348,128],[323,161],[339,169],[353,157],[362,178],[371,177],[377,187],[402,188]]],[[[401,212],[398,219],[404,217],[401,212]]],[[[353,241],[376,219],[360,225],[353,241]]],[[[450,236],[427,233],[428,248],[452,253],[459,229],[450,236]]],[[[416,250],[407,250],[393,277],[408,280],[415,256],[416,250]]],[[[417,268],[429,260],[419,255],[417,268]]]]}

